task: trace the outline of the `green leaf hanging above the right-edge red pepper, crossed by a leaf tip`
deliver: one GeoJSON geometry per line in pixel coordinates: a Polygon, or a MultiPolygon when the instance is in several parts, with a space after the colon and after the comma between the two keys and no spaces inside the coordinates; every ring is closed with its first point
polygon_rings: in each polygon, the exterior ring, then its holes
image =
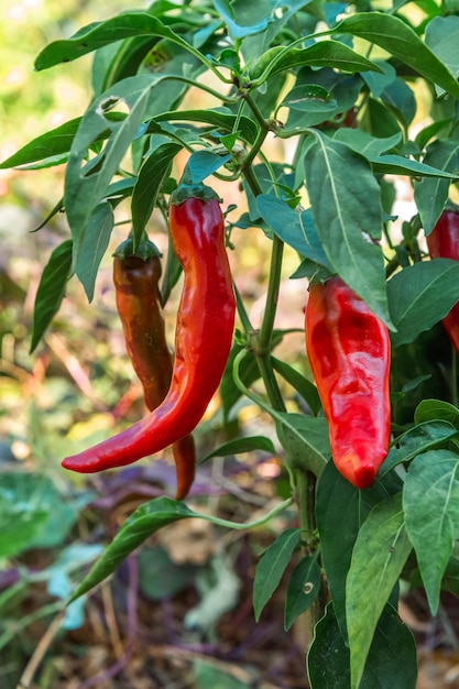
{"type": "MultiPolygon", "coordinates": [[[[453,139],[433,141],[427,146],[424,163],[437,169],[457,173],[459,169],[459,141],[453,139]]],[[[430,234],[445,208],[450,183],[450,179],[442,177],[425,177],[415,183],[414,198],[426,234],[430,234]]]]}

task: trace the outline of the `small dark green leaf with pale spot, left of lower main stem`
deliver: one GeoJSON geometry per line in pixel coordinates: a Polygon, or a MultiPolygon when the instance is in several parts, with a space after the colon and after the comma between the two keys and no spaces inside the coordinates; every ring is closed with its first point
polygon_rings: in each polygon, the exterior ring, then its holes
{"type": "Polygon", "coordinates": [[[304,557],[288,579],[284,609],[284,630],[289,630],[295,620],[316,600],[321,586],[320,567],[317,558],[304,557]]]}

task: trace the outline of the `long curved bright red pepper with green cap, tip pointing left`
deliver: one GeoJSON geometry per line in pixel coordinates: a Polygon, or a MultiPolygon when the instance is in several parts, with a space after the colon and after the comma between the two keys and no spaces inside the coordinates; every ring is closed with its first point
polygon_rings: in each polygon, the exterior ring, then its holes
{"type": "Polygon", "coordinates": [[[214,396],[229,357],[236,299],[216,194],[181,185],[171,198],[171,237],[184,270],[171,387],[162,404],[122,433],[63,461],[92,473],[130,464],[190,434],[214,396]]]}

